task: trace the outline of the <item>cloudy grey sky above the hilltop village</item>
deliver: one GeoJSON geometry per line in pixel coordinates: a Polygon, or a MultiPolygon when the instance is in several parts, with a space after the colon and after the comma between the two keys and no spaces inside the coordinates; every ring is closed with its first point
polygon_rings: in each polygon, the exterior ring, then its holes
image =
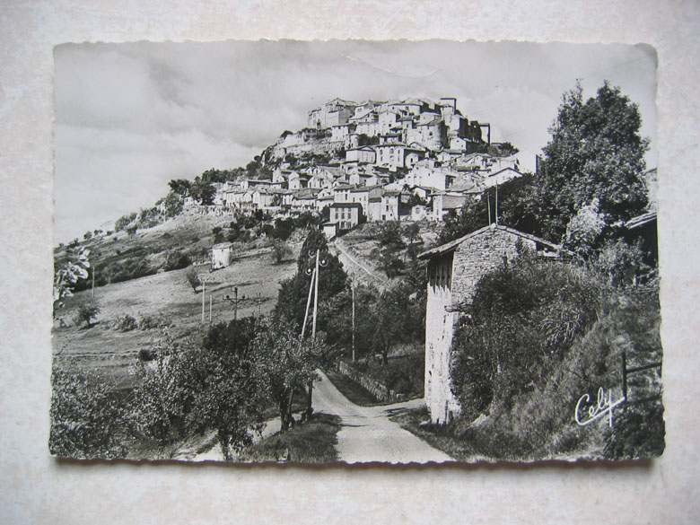
{"type": "Polygon", "coordinates": [[[457,98],[493,142],[533,156],[564,92],[604,80],[639,106],[656,166],[648,46],[407,40],[64,44],[55,59],[54,240],[153,206],[168,181],[245,166],[336,97],[457,98]]]}

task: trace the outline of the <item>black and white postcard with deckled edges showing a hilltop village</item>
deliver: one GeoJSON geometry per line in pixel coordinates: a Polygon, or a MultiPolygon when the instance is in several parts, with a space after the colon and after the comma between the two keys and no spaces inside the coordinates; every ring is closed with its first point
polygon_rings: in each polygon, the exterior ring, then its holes
{"type": "Polygon", "coordinates": [[[53,455],[661,455],[653,48],[54,57],[53,455]]]}

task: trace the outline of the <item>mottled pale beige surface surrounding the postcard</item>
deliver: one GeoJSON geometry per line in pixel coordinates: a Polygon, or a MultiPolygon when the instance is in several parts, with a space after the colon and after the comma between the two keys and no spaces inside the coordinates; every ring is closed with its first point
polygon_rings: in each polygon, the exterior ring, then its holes
{"type": "Polygon", "coordinates": [[[134,2],[0,6],[0,522],[694,522],[698,28],[694,1],[134,2]],[[625,465],[299,468],[81,463],[48,455],[53,47],[219,39],[645,42],[659,54],[667,448],[625,465]]]}

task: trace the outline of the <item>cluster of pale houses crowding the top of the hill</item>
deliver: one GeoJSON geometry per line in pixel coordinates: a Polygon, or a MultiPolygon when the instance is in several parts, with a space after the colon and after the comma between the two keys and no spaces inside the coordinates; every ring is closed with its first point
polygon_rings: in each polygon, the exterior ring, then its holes
{"type": "MultiPolygon", "coordinates": [[[[276,216],[327,210],[328,223],[337,224],[328,232],[362,222],[440,221],[469,198],[531,171],[522,155],[484,153],[490,136],[490,125],[462,115],[453,98],[334,99],[309,111],[307,127],[284,132],[266,150],[266,175],[215,184],[214,204],[199,209],[276,216]],[[304,155],[329,160],[293,162],[304,155]]],[[[197,204],[188,197],[185,206],[197,204]]]]}

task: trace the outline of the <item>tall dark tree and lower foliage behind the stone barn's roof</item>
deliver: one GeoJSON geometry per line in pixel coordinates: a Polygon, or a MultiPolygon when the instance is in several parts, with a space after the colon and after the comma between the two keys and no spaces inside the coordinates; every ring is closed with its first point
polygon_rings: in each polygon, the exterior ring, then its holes
{"type": "MultiPolygon", "coordinates": [[[[642,214],[648,140],[641,124],[636,104],[607,82],[587,101],[580,84],[564,93],[538,172],[499,188],[500,222],[561,242],[584,206],[595,206],[606,227],[642,214]]],[[[448,217],[441,241],[486,226],[489,201],[493,222],[492,189],[448,217]]]]}

